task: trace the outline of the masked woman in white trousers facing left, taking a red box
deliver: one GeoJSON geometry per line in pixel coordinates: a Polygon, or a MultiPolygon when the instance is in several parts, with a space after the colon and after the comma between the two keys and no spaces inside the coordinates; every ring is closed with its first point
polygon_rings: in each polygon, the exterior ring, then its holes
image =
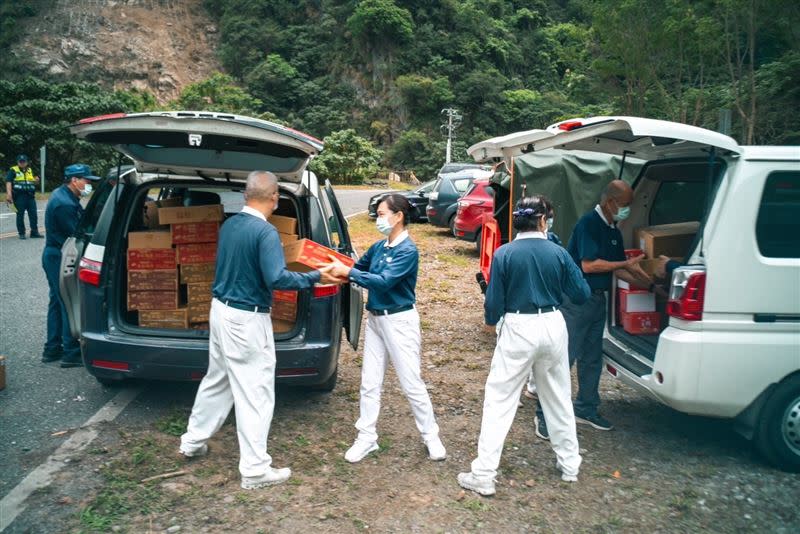
{"type": "Polygon", "coordinates": [[[410,217],[411,204],[406,197],[387,195],[378,205],[375,222],[386,239],[373,244],[352,269],[338,261],[333,263],[334,274],[369,290],[360,416],[356,421],[358,437],[344,455],[350,463],[359,462],[378,450],[376,427],[389,361],[411,404],[428,457],[444,460],[447,456],[439,439],[439,425],[433,415],[431,399],[420,375],[421,334],[419,313],[414,306],[419,252],[406,229],[410,217]]]}

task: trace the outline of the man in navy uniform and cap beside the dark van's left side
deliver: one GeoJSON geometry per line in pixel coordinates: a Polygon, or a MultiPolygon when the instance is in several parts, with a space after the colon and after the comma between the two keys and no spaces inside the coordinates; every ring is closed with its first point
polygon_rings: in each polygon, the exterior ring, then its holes
{"type": "Polygon", "coordinates": [[[92,169],[88,165],[70,165],[64,169],[64,184],[50,195],[44,212],[47,239],[42,253],[42,268],[50,286],[50,303],[47,307],[47,341],[44,344],[42,361],[61,360],[61,367],[82,365],[81,349],[70,332],[67,310],[59,292],[61,247],[75,233],[83,215],[80,198],[92,192],[89,182],[99,179],[92,175],[92,169]]]}

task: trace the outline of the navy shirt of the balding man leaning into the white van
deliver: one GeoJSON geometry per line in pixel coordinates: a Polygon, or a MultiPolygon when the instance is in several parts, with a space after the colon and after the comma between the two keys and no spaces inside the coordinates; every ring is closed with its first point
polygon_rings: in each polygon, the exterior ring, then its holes
{"type": "MultiPolygon", "coordinates": [[[[581,268],[582,260],[625,261],[622,233],[616,225],[606,224],[596,208],[578,220],[567,250],[578,268],[581,268]]],[[[611,289],[610,272],[584,273],[583,276],[593,290],[611,289]]]]}

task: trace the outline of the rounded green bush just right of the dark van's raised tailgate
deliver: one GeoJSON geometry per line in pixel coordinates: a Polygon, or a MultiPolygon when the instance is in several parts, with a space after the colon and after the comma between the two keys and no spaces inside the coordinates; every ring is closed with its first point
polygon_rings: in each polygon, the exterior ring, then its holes
{"type": "Polygon", "coordinates": [[[325,149],[310,165],[317,175],[333,183],[360,184],[377,174],[383,151],[359,137],[355,130],[333,132],[324,142],[325,149]]]}

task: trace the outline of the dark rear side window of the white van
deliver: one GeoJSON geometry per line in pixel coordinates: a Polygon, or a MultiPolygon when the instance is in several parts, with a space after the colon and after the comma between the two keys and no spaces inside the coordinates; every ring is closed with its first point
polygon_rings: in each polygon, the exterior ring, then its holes
{"type": "Polygon", "coordinates": [[[773,172],[756,220],[758,249],[768,258],[800,258],[800,172],[773,172]]]}

